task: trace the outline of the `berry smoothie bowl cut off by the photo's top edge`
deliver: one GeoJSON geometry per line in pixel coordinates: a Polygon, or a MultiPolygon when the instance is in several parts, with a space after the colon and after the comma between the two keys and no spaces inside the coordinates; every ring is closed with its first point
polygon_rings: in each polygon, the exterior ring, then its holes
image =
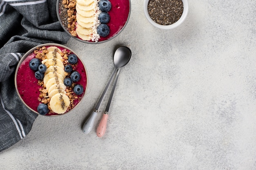
{"type": "Polygon", "coordinates": [[[63,29],[89,44],[103,43],[119,35],[130,11],[130,0],[57,0],[56,5],[63,29]]]}

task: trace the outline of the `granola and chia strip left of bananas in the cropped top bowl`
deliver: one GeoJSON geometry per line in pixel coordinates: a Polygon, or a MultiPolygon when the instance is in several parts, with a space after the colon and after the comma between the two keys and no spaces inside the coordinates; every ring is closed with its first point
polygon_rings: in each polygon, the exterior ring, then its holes
{"type": "Polygon", "coordinates": [[[76,0],[61,0],[59,6],[63,25],[72,36],[76,37],[76,0]]]}

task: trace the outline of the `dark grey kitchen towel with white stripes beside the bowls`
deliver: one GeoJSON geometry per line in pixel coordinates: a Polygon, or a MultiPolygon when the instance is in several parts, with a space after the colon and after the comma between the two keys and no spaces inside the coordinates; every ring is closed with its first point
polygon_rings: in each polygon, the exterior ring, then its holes
{"type": "Polygon", "coordinates": [[[34,46],[69,38],[58,22],[56,0],[0,0],[0,151],[24,138],[37,117],[14,86],[20,58],[34,46]]]}

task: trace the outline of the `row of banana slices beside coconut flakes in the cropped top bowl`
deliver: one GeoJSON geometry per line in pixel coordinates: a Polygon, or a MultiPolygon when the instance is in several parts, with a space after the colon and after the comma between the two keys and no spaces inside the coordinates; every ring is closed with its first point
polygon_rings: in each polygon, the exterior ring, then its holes
{"type": "Polygon", "coordinates": [[[96,34],[97,8],[97,0],[76,0],[76,33],[85,41],[99,38],[96,34]]]}

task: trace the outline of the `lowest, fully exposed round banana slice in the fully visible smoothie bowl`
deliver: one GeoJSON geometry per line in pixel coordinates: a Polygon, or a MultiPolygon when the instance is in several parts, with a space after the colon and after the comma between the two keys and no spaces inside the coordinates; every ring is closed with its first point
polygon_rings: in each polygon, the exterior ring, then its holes
{"type": "Polygon", "coordinates": [[[49,104],[54,113],[63,114],[70,106],[70,98],[65,94],[57,93],[52,96],[49,104]]]}

